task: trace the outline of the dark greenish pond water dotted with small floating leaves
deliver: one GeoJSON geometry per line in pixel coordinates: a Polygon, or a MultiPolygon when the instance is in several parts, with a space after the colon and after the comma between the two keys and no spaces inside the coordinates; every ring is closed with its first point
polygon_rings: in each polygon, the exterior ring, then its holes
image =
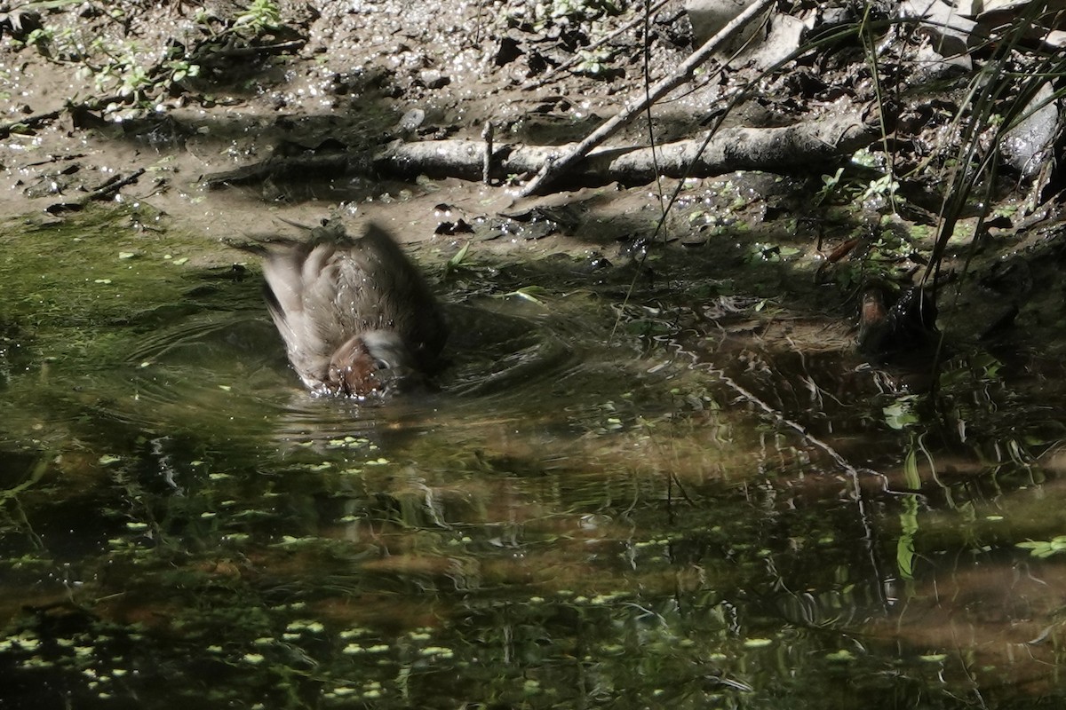
{"type": "Polygon", "coordinates": [[[925,410],[680,263],[471,267],[439,391],[360,407],[179,237],[0,241],[0,708],[1066,701],[1056,365],[925,410]]]}

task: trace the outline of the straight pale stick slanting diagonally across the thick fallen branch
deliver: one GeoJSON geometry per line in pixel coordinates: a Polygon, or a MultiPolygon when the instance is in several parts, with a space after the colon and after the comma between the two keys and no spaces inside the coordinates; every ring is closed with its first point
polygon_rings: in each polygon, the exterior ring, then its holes
{"type": "Polygon", "coordinates": [[[618,114],[603,122],[598,129],[593,131],[588,137],[579,143],[576,148],[563,158],[559,160],[545,161],[544,166],[536,174],[536,176],[534,176],[534,178],[527,183],[520,195],[522,197],[528,197],[555,180],[567,168],[583,159],[589,150],[614,135],[618,129],[631,121],[637,114],[645,111],[649,105],[661,99],[669,92],[674,90],[676,87],[687,81],[690,81],[695,75],[696,69],[709,60],[711,54],[717,50],[718,45],[723,44],[729,38],[730,35],[746,24],[753,17],[773,3],[774,0],[758,0],[755,4],[748,5],[748,7],[734,17],[729,24],[722,28],[716,35],[708,39],[704,43],[702,47],[693,52],[692,55],[689,56],[689,59],[685,60],[673,75],[666,77],[652,86],[641,100],[627,103],[618,114]]]}

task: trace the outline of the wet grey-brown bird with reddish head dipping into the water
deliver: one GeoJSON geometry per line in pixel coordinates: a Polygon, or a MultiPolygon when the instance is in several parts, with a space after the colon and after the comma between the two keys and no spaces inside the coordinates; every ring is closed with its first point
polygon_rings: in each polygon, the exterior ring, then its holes
{"type": "Polygon", "coordinates": [[[271,318],[312,394],[383,397],[439,369],[448,339],[441,309],[379,226],[353,237],[340,220],[326,219],[309,240],[256,250],[271,318]]]}

